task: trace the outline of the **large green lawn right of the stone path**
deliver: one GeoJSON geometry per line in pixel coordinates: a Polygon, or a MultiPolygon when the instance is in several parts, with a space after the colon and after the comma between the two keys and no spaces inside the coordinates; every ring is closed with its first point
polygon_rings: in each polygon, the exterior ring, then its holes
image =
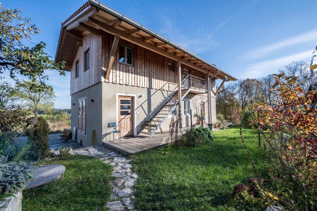
{"type": "MultiPolygon", "coordinates": [[[[256,164],[264,169],[257,131],[243,129],[256,164]]],[[[135,188],[141,210],[240,210],[230,203],[233,187],[254,177],[239,128],[214,132],[200,147],[153,149],[131,156],[138,174],[135,188]]]]}

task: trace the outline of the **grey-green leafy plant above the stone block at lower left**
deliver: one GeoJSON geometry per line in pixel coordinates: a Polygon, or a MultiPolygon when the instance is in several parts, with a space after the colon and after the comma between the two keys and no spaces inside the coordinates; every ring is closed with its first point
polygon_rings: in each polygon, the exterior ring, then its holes
{"type": "Polygon", "coordinates": [[[34,167],[21,161],[1,164],[3,159],[4,156],[0,156],[0,194],[22,192],[33,178],[34,167]]]}

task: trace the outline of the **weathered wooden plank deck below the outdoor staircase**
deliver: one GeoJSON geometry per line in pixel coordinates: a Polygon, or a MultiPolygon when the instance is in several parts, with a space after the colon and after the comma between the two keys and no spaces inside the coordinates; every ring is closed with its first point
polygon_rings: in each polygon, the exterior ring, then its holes
{"type": "Polygon", "coordinates": [[[149,136],[122,137],[111,141],[102,142],[103,146],[122,152],[123,154],[135,154],[143,150],[163,146],[168,143],[168,133],[155,133],[152,138],[149,136]],[[164,136],[165,135],[165,136],[164,136]]]}

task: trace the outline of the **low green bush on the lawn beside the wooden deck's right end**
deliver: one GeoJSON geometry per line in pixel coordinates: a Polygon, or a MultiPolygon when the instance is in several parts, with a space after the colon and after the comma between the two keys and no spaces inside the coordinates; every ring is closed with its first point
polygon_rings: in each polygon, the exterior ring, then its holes
{"type": "Polygon", "coordinates": [[[208,127],[194,127],[186,130],[179,144],[184,146],[199,146],[214,139],[208,127]]]}

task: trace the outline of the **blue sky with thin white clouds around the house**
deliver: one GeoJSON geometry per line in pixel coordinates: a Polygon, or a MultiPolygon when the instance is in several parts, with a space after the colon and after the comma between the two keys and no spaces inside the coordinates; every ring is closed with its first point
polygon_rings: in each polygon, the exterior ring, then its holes
{"type": "MultiPolygon", "coordinates": [[[[102,2],[237,78],[262,77],[292,61],[310,61],[317,45],[315,0],[102,2]]],[[[32,42],[44,41],[54,57],[61,22],[85,1],[1,3],[24,10],[41,29],[32,42]]],[[[46,74],[57,96],[55,108],[70,108],[69,72],[65,77],[46,74]]]]}

